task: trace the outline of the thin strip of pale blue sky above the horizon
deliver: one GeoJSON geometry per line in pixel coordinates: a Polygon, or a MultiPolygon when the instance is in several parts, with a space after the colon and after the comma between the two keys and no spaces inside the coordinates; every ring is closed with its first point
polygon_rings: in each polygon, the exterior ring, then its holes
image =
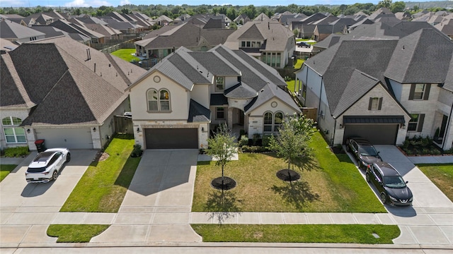
{"type": "MultiPolygon", "coordinates": [[[[0,0],[0,7],[34,7],[34,6],[56,6],[56,7],[99,7],[99,6],[122,6],[125,4],[162,4],[162,5],[183,5],[188,4],[197,6],[200,4],[217,4],[217,5],[239,5],[245,6],[253,4],[254,6],[287,6],[289,4],[298,4],[313,6],[316,4],[355,4],[355,3],[372,3],[377,4],[379,0],[0,0]]],[[[428,1],[428,0],[421,0],[428,1]]],[[[452,1],[452,0],[450,0],[452,1]]]]}

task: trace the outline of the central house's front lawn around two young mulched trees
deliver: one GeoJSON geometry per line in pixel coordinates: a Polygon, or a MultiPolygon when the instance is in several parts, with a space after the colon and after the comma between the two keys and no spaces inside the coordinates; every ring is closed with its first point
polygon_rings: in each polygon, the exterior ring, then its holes
{"type": "Polygon", "coordinates": [[[221,176],[214,162],[199,162],[193,212],[386,212],[348,155],[335,155],[316,133],[314,159],[292,185],[275,176],[287,164],[275,154],[239,154],[225,176],[237,186],[224,195],[210,186],[221,176]]]}

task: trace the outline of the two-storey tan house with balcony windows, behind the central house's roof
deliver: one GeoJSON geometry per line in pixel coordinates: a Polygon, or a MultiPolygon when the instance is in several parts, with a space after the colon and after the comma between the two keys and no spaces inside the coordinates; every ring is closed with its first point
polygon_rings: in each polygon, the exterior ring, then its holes
{"type": "Polygon", "coordinates": [[[224,43],[241,49],[273,68],[285,68],[296,49],[294,34],[275,20],[253,20],[235,30],[224,43]]]}

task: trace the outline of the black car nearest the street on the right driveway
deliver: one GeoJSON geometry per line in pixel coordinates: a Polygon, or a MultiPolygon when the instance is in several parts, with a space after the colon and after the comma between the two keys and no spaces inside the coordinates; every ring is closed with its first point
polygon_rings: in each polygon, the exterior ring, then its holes
{"type": "Polygon", "coordinates": [[[373,183],[379,191],[383,204],[412,205],[413,195],[399,172],[387,162],[374,162],[367,167],[367,182],[373,183]]]}

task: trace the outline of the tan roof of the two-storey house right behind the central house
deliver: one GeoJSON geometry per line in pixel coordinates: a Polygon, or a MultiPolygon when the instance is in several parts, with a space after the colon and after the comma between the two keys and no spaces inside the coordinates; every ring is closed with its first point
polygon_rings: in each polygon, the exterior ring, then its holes
{"type": "MultiPolygon", "coordinates": [[[[224,45],[230,49],[239,49],[240,40],[265,40],[260,51],[283,52],[294,40],[294,34],[275,20],[253,20],[235,30],[224,45]]],[[[292,43],[292,46],[295,42],[292,43]]]]}

